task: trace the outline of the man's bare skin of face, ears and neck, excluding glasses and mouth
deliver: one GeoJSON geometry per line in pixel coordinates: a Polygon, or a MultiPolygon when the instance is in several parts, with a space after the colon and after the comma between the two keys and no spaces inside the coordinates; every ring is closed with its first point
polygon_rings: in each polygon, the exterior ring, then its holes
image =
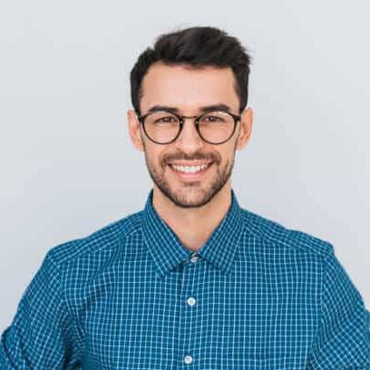
{"type": "MultiPolygon", "coordinates": [[[[180,115],[195,116],[200,108],[226,104],[239,115],[235,77],[228,68],[192,68],[186,65],[151,65],[142,81],[141,114],[154,105],[177,108],[180,115]]],[[[231,204],[231,173],[236,151],[250,138],[253,112],[241,113],[234,135],[223,144],[203,141],[193,123],[186,119],[178,139],[161,145],[150,141],[136,113],[127,112],[129,133],[136,149],[143,151],[153,180],[153,207],[190,250],[198,250],[209,239],[231,204]],[[181,180],[170,162],[214,161],[201,180],[181,180]]]]}

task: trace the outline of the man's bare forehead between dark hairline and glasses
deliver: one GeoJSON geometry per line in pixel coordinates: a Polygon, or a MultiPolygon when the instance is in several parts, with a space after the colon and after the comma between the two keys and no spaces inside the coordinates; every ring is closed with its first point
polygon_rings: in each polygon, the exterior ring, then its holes
{"type": "Polygon", "coordinates": [[[141,112],[156,104],[189,112],[215,103],[225,103],[238,111],[235,85],[234,73],[229,67],[194,68],[154,63],[141,83],[141,112]]]}

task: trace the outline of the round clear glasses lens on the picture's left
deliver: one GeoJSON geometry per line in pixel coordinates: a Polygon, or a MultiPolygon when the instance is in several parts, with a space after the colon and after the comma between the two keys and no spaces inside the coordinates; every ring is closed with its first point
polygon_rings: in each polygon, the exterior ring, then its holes
{"type": "Polygon", "coordinates": [[[145,131],[153,140],[166,143],[175,139],[180,130],[180,120],[170,112],[153,112],[145,119],[145,131]]]}

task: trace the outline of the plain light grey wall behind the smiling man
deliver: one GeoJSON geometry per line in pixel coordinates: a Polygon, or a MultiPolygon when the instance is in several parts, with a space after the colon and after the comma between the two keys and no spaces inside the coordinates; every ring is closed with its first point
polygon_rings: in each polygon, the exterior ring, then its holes
{"type": "Polygon", "coordinates": [[[46,252],[143,208],[129,73],[154,38],[216,25],[254,58],[243,208],[335,246],[370,307],[369,6],[345,1],[3,1],[0,331],[46,252]]]}

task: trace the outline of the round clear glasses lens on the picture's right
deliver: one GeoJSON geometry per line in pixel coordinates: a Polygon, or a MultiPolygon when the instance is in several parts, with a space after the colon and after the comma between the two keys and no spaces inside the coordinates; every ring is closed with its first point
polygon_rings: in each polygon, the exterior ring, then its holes
{"type": "Polygon", "coordinates": [[[227,112],[208,112],[200,116],[200,135],[209,142],[227,141],[234,131],[234,118],[227,112]]]}

